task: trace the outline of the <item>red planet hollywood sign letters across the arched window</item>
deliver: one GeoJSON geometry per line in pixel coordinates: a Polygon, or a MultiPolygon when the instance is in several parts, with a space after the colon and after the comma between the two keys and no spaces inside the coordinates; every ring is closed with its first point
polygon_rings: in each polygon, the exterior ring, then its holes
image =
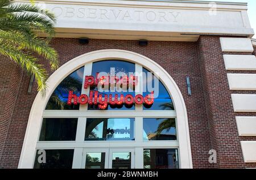
{"type": "MultiPolygon", "coordinates": [[[[137,76],[123,76],[122,78],[116,77],[116,76],[102,76],[98,78],[98,73],[96,75],[96,78],[93,76],[85,76],[85,82],[84,82],[84,89],[88,89],[89,86],[97,86],[101,85],[102,87],[107,85],[118,85],[122,88],[127,87],[133,87],[138,85],[138,77],[137,76]]],[[[154,91],[151,91],[150,94],[143,97],[141,94],[135,95],[135,97],[131,94],[123,95],[120,94],[120,97],[118,97],[118,94],[105,94],[102,95],[98,91],[90,90],[89,91],[89,97],[86,94],[81,94],[80,96],[77,96],[76,94],[73,94],[73,91],[69,91],[68,94],[68,105],[71,104],[90,104],[90,105],[96,105],[101,110],[105,110],[108,107],[108,104],[113,106],[121,106],[122,104],[126,104],[128,106],[131,106],[132,104],[147,104],[151,105],[154,103],[154,91]]]]}

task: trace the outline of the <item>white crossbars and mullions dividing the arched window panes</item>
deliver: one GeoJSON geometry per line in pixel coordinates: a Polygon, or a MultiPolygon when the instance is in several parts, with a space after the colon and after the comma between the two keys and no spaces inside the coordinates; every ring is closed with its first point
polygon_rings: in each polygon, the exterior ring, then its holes
{"type": "MultiPolygon", "coordinates": [[[[84,66],[84,77],[90,76],[92,73],[92,64],[90,62],[84,66]]],[[[142,73],[143,66],[135,64],[135,72],[142,73]]],[[[143,79],[139,78],[138,85],[135,87],[135,95],[143,94],[143,79]]],[[[82,87],[84,87],[84,78],[82,81],[82,87]]],[[[89,95],[89,88],[82,88],[81,94],[89,95]]],[[[73,168],[79,157],[76,157],[78,149],[86,148],[120,148],[125,146],[125,148],[140,149],[143,153],[144,148],[179,148],[179,136],[177,140],[152,140],[143,141],[143,118],[176,118],[175,110],[143,110],[143,104],[135,104],[135,110],[88,110],[88,104],[84,104],[79,107],[79,110],[44,110],[43,118],[77,118],[77,131],[75,141],[39,141],[36,143],[36,149],[70,149],[73,148],[73,168]],[[114,116],[113,116],[114,115],[114,116]],[[85,128],[86,128],[86,118],[134,118],[134,141],[85,141],[85,128]],[[141,132],[141,133],[140,133],[141,132]]],[[[40,125],[42,127],[42,123],[40,125]]],[[[178,151],[179,152],[179,151],[178,151]]],[[[143,167],[143,156],[136,156],[137,163],[135,168],[143,167]]],[[[81,158],[82,159],[82,158],[81,158]]]]}

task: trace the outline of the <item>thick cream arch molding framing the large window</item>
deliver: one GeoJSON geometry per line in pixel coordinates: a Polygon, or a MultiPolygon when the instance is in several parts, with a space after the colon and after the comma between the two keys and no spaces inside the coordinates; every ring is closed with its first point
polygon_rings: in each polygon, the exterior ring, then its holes
{"type": "Polygon", "coordinates": [[[159,78],[162,80],[164,86],[166,86],[168,92],[170,93],[176,110],[176,128],[179,142],[180,168],[192,168],[187,110],[179,87],[177,87],[174,79],[172,79],[166,70],[164,70],[156,62],[152,61],[150,58],[139,55],[135,52],[119,49],[104,49],[85,53],[84,55],[78,56],[66,62],[48,78],[48,91],[46,93],[46,97],[43,98],[42,95],[38,93],[34,103],[32,104],[18,168],[33,168],[36,143],[40,132],[43,111],[46,107],[48,99],[51,97],[51,94],[57,85],[59,85],[59,83],[63,81],[65,77],[81,66],[84,66],[89,62],[106,59],[119,59],[134,62],[135,64],[144,66],[151,72],[159,73],[159,78]]]}

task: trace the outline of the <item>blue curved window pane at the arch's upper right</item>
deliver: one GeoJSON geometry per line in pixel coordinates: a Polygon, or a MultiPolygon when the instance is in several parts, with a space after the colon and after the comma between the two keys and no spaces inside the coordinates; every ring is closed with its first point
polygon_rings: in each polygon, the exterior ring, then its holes
{"type": "Polygon", "coordinates": [[[172,103],[172,99],[164,87],[163,83],[157,79],[155,87],[154,74],[149,73],[149,71],[143,68],[143,96],[150,94],[152,90],[154,90],[154,103],[151,106],[147,106],[144,104],[143,110],[174,110],[174,104],[172,103]],[[152,87],[152,89],[151,89],[152,87]],[[146,91],[144,90],[146,89],[146,91]],[[158,94],[156,94],[156,90],[158,90],[158,94]]]}

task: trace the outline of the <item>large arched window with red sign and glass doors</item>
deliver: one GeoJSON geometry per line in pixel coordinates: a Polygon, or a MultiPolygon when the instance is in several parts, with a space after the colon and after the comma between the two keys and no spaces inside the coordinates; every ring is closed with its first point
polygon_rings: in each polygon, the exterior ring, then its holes
{"type": "Polygon", "coordinates": [[[40,118],[35,99],[19,167],[32,161],[32,168],[191,167],[183,102],[177,101],[176,112],[177,90],[172,93],[157,70],[124,58],[92,60],[62,79],[46,100],[39,97],[42,120],[33,122],[40,118]]]}

